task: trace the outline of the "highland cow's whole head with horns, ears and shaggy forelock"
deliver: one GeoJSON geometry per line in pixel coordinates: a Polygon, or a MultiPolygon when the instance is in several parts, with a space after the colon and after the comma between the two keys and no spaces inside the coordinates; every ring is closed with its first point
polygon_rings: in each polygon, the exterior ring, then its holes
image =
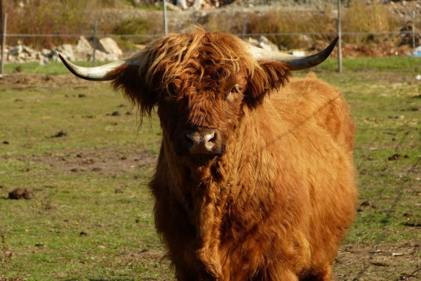
{"type": "Polygon", "coordinates": [[[290,71],[319,65],[337,40],[321,53],[297,58],[199,29],[156,39],[131,58],[102,67],[76,67],[60,58],[76,76],[112,81],[142,116],[156,107],[168,148],[183,161],[205,163],[224,153],[243,107],[258,107],[290,71]]]}

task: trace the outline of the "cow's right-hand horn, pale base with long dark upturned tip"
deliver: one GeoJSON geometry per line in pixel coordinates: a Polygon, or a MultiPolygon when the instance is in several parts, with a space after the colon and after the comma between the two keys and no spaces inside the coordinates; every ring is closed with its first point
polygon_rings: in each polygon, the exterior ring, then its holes
{"type": "Polygon", "coordinates": [[[305,70],[310,67],[315,67],[323,63],[326,58],[332,53],[335,48],[336,42],[339,37],[333,39],[333,41],[323,51],[314,55],[308,55],[306,57],[298,57],[296,55],[288,55],[286,53],[279,53],[275,51],[267,51],[262,48],[255,46],[248,46],[248,50],[256,60],[275,60],[282,63],[286,63],[290,70],[305,70]]]}

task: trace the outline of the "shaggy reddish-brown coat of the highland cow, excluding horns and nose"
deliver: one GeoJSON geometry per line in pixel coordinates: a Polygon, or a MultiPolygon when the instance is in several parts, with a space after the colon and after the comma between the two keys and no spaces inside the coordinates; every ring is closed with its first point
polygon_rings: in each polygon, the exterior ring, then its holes
{"type": "Polygon", "coordinates": [[[355,126],[332,86],[257,62],[240,39],[197,30],[157,39],[114,70],[114,89],[157,106],[156,229],[178,280],[331,280],[354,219],[355,126]],[[218,155],[179,155],[192,128],[218,155]]]}

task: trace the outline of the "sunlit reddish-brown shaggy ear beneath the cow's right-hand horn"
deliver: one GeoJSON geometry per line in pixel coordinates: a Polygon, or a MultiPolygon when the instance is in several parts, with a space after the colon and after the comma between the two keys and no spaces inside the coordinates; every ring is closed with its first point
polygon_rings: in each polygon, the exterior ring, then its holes
{"type": "Polygon", "coordinates": [[[259,63],[260,67],[255,69],[248,78],[244,100],[249,108],[258,107],[263,99],[271,91],[279,89],[290,77],[288,66],[284,63],[264,61],[259,63]]]}

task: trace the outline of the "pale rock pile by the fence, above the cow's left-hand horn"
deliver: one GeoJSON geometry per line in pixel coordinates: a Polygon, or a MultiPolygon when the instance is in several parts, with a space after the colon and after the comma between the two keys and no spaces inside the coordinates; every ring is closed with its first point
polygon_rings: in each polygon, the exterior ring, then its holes
{"type": "MultiPolygon", "coordinates": [[[[29,63],[39,62],[41,65],[48,64],[49,61],[58,61],[58,53],[68,60],[86,61],[91,60],[93,55],[92,44],[83,36],[79,37],[76,45],[62,44],[52,49],[34,50],[18,41],[17,46],[6,47],[6,60],[8,63],[29,63]]],[[[95,48],[95,60],[114,61],[119,60],[123,51],[116,44],[114,39],[104,37],[97,41],[95,48]]]]}

